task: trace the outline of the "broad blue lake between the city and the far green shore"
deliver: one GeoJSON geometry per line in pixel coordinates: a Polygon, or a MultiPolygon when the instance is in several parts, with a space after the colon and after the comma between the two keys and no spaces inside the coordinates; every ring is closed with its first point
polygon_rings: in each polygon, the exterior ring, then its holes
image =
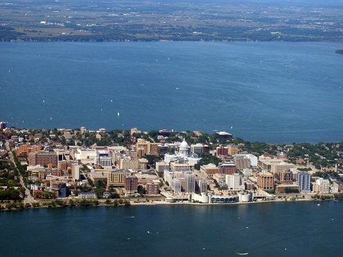
{"type": "Polygon", "coordinates": [[[269,143],[342,141],[337,48],[342,44],[1,43],[0,120],[225,130],[269,143]]]}

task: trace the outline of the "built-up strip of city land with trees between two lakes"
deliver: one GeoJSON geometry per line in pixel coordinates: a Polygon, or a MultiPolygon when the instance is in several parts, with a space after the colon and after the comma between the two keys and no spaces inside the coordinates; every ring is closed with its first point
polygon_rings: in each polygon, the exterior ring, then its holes
{"type": "Polygon", "coordinates": [[[1,209],[342,197],[342,142],[270,145],[227,132],[0,125],[1,209]]]}

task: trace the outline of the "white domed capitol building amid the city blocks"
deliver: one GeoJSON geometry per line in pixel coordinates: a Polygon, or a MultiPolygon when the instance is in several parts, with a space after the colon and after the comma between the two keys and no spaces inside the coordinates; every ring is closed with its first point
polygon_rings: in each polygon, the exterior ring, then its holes
{"type": "Polygon", "coordinates": [[[175,161],[178,163],[187,163],[189,165],[197,164],[201,158],[197,154],[190,154],[190,147],[188,143],[184,140],[179,145],[179,151],[175,154],[165,154],[164,161],[170,163],[170,161],[175,161]]]}

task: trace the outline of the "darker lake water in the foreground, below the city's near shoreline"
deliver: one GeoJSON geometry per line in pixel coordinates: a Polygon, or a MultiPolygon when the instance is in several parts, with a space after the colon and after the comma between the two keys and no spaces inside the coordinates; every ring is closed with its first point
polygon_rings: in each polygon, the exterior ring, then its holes
{"type": "Polygon", "coordinates": [[[332,200],[2,211],[1,256],[342,256],[342,213],[332,200]]]}

